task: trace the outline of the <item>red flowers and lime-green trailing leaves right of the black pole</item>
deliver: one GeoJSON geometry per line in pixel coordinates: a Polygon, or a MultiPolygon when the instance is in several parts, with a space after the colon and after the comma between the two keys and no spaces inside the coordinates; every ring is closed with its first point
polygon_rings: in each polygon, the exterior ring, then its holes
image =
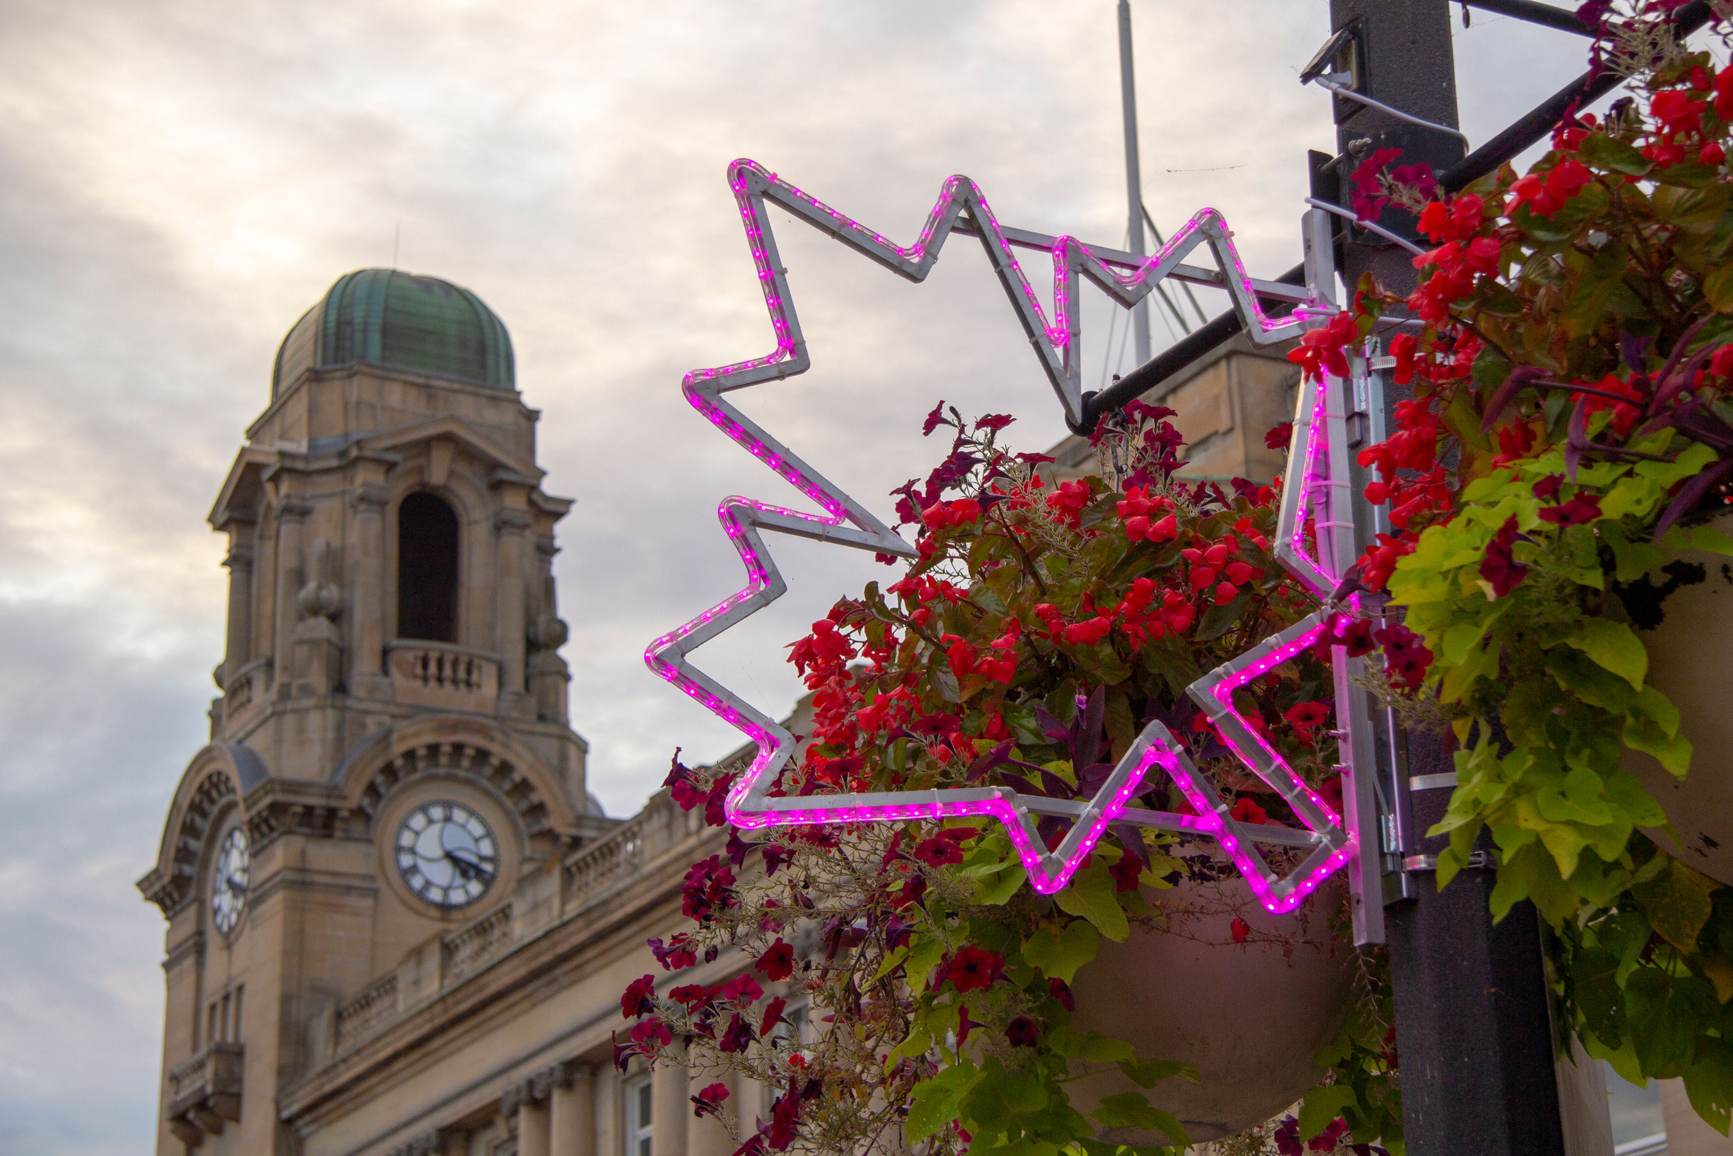
{"type": "MultiPolygon", "coordinates": [[[[1419,634],[1366,641],[1386,659],[1378,690],[1457,745],[1438,886],[1489,832],[1492,913],[1539,908],[1587,1052],[1638,1083],[1683,1076],[1728,1132],[1733,889],[1643,834],[1667,820],[1622,761],[1691,771],[1639,629],[1705,577],[1679,551],[1733,555],[1712,525],[1733,478],[1733,68],[1672,38],[1674,5],[1586,7],[1598,59],[1638,95],[1568,116],[1529,173],[1449,199],[1367,158],[1364,208],[1409,206],[1435,248],[1412,293],[1364,281],[1295,359],[1345,374],[1388,338],[1414,388],[1360,454],[1393,529],[1357,581],[1419,634]]],[[[1726,45],[1726,21],[1712,31],[1726,45]]]]}

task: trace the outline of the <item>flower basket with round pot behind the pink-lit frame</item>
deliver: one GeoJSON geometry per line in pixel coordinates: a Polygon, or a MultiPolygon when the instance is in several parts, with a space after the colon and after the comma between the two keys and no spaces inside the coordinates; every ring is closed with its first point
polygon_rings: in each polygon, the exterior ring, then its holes
{"type": "MultiPolygon", "coordinates": [[[[773,1088],[740,1156],[1173,1149],[1303,1097],[1326,1078],[1326,1047],[1383,1104],[1352,1121],[1360,1139],[1388,1123],[1386,1026],[1353,1014],[1376,1003],[1379,967],[1345,943],[1340,882],[1269,915],[1213,839],[1116,822],[1069,882],[1031,886],[1036,853],[1012,839],[1071,846],[1068,816],[1159,721],[1241,832],[1284,828],[1260,844],[1279,875],[1315,856],[1307,823],[1185,695],[1315,600],[1274,562],[1277,492],[1178,482],[1168,416],[1130,406],[1099,437],[1102,473],[1055,485],[1048,459],[998,445],[1010,418],[936,407],[927,432],[950,428],[951,451],[898,490],[918,558],[792,645],[813,733],[771,799],[1000,787],[1048,806],[1026,835],[983,815],[773,827],[691,868],[697,927],[655,941],[657,957],[683,971],[735,951],[750,981],[645,976],[622,1003],[619,1055],[671,1062],[685,1045],[686,1062],[773,1088]],[[816,1024],[804,1047],[778,1026],[802,998],[816,1024]]],[[[1340,813],[1329,697],[1327,660],[1301,650],[1232,707],[1340,813]]],[[[735,770],[676,764],[669,787],[726,823],[724,799],[750,782],[735,770]]],[[[1125,802],[1203,825],[1159,766],[1125,802]]]]}

